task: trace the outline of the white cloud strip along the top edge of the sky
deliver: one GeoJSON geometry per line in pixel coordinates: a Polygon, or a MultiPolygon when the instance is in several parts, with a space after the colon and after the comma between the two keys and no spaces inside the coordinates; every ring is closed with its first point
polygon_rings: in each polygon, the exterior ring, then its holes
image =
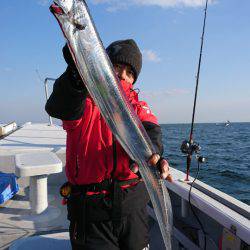
{"type": "MultiPolygon", "coordinates": [[[[202,7],[206,0],[92,0],[94,4],[108,4],[109,11],[128,8],[132,5],[137,6],[158,6],[162,8],[171,7],[202,7]]],[[[214,3],[215,0],[209,0],[209,3],[214,3]]]]}

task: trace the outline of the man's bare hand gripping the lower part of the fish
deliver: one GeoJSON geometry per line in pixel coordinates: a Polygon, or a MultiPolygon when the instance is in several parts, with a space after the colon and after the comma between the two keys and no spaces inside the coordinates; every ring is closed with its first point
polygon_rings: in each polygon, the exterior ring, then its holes
{"type": "MultiPolygon", "coordinates": [[[[169,182],[173,181],[173,177],[170,174],[170,169],[169,169],[169,164],[166,159],[161,159],[160,155],[158,154],[153,154],[150,159],[148,160],[148,164],[150,166],[155,166],[159,168],[159,171],[161,173],[161,178],[166,179],[169,182]],[[159,162],[160,161],[160,162],[159,162]]],[[[139,171],[139,167],[136,163],[133,163],[130,166],[130,169],[134,172],[137,173],[139,171]]]]}

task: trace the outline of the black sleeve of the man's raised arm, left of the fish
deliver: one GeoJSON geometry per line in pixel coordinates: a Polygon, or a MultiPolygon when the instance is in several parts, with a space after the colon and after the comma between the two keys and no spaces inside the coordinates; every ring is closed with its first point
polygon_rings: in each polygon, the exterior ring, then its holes
{"type": "Polygon", "coordinates": [[[87,89],[75,79],[69,69],[54,83],[53,92],[46,105],[46,112],[57,119],[77,120],[84,112],[87,89]]]}

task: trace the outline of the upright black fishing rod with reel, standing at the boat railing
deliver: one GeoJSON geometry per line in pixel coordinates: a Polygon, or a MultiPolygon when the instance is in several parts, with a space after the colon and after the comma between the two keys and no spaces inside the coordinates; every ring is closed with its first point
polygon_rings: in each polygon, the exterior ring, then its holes
{"type": "MultiPolygon", "coordinates": [[[[198,62],[198,69],[196,74],[196,86],[195,86],[195,96],[194,96],[194,104],[193,104],[193,114],[192,114],[192,122],[191,122],[191,129],[189,140],[184,140],[181,145],[182,153],[187,155],[187,170],[186,170],[186,179],[185,181],[189,181],[189,171],[192,161],[193,153],[198,154],[201,150],[199,144],[193,141],[193,132],[194,132],[194,119],[195,119],[195,111],[196,111],[196,101],[197,101],[197,94],[198,94],[198,86],[199,86],[199,79],[200,79],[200,68],[201,68],[201,59],[202,59],[202,51],[203,51],[203,44],[204,44],[204,35],[205,35],[205,28],[206,28],[206,19],[207,19],[207,6],[208,0],[206,0],[206,5],[204,9],[204,19],[203,19],[203,28],[202,28],[202,35],[201,35],[201,46],[200,46],[200,55],[199,55],[199,62],[198,62]]],[[[199,163],[205,162],[205,158],[202,156],[197,157],[199,163]]]]}

